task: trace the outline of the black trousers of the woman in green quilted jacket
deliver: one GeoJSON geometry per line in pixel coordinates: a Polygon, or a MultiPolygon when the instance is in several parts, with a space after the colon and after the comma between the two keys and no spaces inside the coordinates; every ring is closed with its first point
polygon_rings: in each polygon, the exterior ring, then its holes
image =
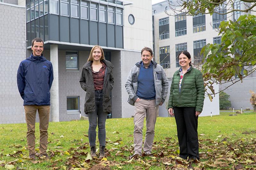
{"type": "Polygon", "coordinates": [[[177,124],[179,157],[199,159],[198,116],[195,116],[195,107],[173,107],[173,109],[177,124]]]}

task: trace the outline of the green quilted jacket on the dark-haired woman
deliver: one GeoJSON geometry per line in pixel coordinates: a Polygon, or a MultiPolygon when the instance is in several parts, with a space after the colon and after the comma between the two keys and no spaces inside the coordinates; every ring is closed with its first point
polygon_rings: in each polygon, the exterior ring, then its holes
{"type": "Polygon", "coordinates": [[[172,107],[195,107],[202,112],[204,100],[204,84],[201,71],[191,68],[183,76],[179,92],[180,70],[172,78],[168,109],[172,107]]]}

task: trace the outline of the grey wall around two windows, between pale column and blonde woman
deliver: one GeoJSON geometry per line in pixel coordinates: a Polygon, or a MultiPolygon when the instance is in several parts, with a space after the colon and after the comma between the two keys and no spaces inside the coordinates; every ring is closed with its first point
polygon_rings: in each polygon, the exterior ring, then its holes
{"type": "Polygon", "coordinates": [[[67,71],[66,70],[66,51],[59,50],[59,111],[60,122],[78,120],[79,113],[67,112],[67,96],[79,96],[79,104],[81,115],[84,113],[84,101],[86,92],[81,88],[79,79],[83,65],[87,62],[89,51],[79,51],[78,64],[79,70],[67,71]]]}

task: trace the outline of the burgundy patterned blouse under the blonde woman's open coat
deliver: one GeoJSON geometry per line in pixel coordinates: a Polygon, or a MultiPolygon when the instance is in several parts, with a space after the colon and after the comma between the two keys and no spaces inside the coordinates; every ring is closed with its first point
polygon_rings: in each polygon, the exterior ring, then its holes
{"type": "Polygon", "coordinates": [[[106,65],[104,63],[102,63],[102,68],[100,68],[100,70],[98,72],[93,71],[92,65],[91,65],[91,68],[92,68],[92,72],[93,72],[94,90],[102,90],[105,71],[106,71],[106,65]]]}

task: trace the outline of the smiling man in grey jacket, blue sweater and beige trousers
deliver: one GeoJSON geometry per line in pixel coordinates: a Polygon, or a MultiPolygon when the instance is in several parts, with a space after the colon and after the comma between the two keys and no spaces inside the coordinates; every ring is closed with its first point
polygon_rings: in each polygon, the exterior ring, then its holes
{"type": "Polygon", "coordinates": [[[142,155],[142,129],[146,117],[144,153],[150,155],[155,134],[155,122],[159,105],[164,103],[168,91],[168,79],[163,67],[154,61],[151,48],[141,50],[142,61],[132,67],[125,83],[129,94],[128,103],[134,108],[134,154],[142,155]]]}

